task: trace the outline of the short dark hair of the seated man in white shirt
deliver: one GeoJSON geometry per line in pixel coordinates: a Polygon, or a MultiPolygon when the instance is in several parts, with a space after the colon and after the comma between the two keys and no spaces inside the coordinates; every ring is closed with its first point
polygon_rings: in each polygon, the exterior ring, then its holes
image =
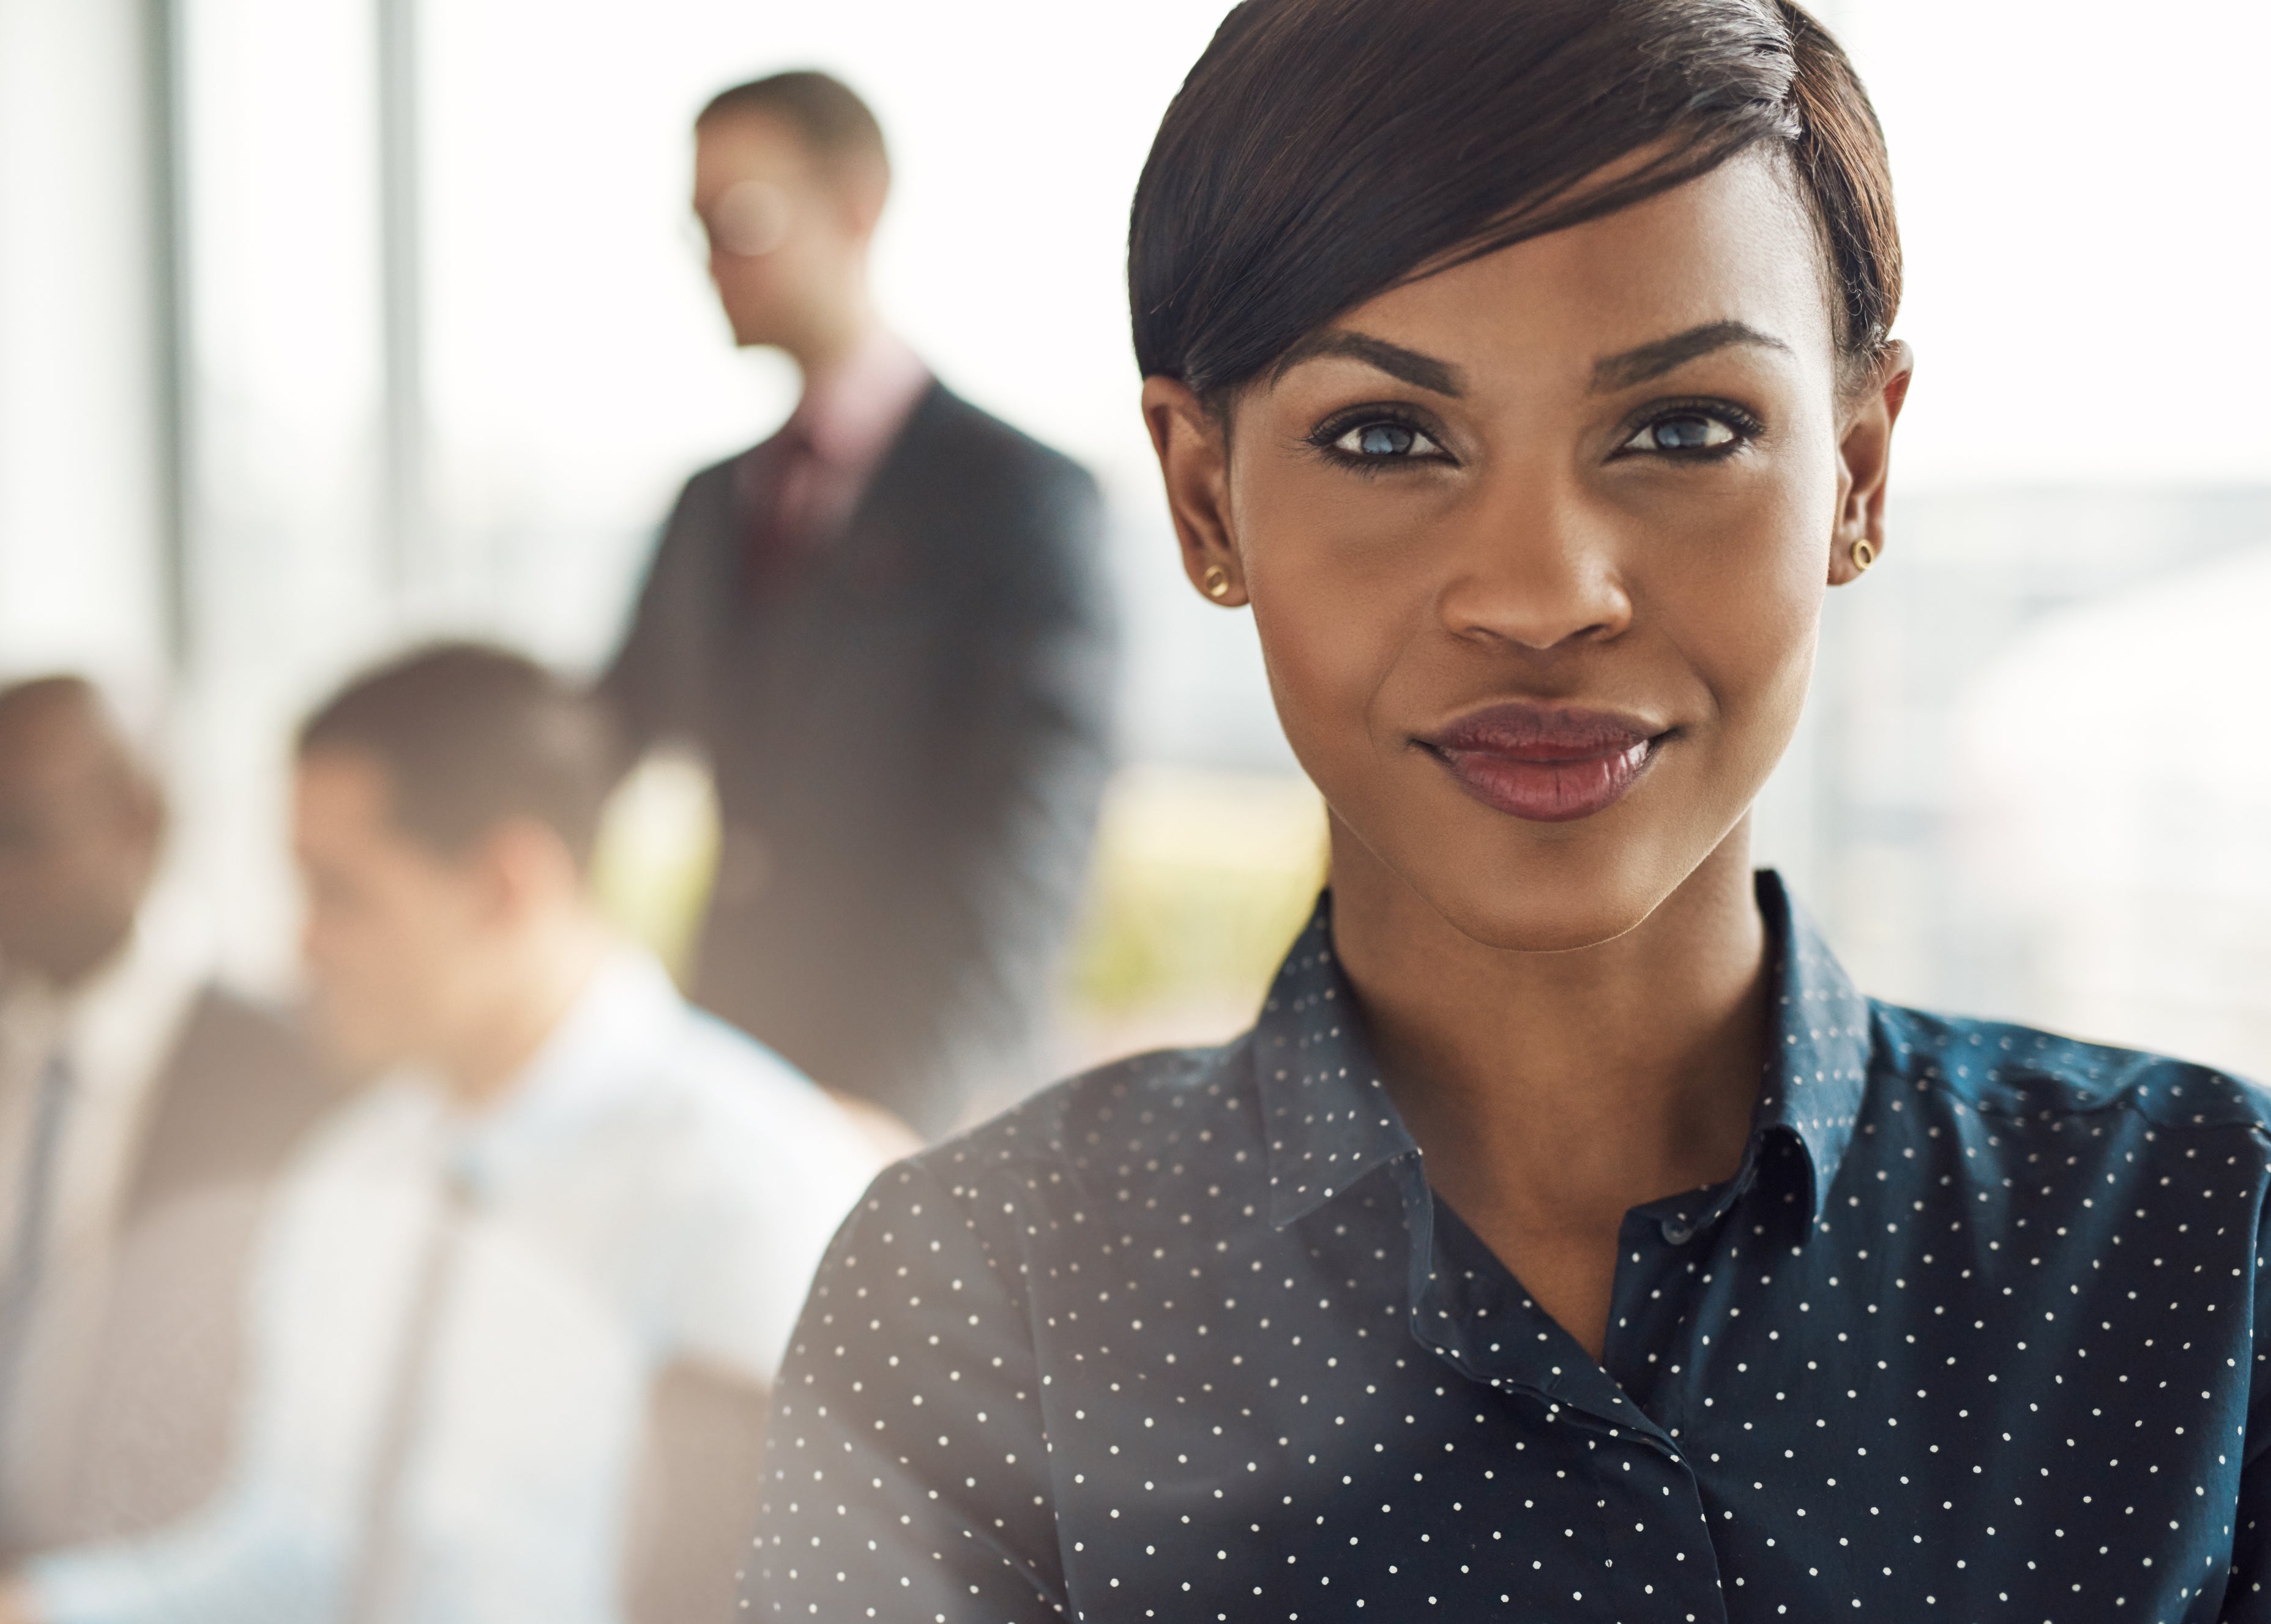
{"type": "Polygon", "coordinates": [[[481,643],[436,643],[350,681],[300,727],[300,759],[325,752],[377,761],[395,824],[441,856],[534,818],[579,868],[625,768],[597,697],[481,643]]]}

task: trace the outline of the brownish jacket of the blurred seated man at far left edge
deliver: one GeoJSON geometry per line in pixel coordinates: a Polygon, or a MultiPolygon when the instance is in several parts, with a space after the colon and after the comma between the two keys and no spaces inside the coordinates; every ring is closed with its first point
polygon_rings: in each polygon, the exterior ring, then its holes
{"type": "Polygon", "coordinates": [[[341,1097],[288,1022],[218,988],[198,995],[152,1083],[70,1483],[39,1517],[45,1545],[159,1526],[218,1485],[261,1213],[341,1097]]]}

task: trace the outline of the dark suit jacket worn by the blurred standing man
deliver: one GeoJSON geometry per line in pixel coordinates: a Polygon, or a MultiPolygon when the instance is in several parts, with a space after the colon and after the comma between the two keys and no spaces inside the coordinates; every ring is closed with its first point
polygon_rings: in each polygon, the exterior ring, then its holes
{"type": "Polygon", "coordinates": [[[695,997],[938,1133],[1029,1065],[1079,904],[1115,700],[1097,488],[933,384],[759,595],[738,463],[686,484],[604,679],[718,781],[695,997]]]}

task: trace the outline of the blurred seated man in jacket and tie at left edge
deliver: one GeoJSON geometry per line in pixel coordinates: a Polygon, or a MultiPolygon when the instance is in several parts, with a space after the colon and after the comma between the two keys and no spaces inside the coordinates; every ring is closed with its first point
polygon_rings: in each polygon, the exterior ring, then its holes
{"type": "Polygon", "coordinates": [[[277,1167],[336,1102],[150,899],[157,777],[79,677],[0,690],[0,1545],[179,1515],[227,1458],[277,1167]]]}

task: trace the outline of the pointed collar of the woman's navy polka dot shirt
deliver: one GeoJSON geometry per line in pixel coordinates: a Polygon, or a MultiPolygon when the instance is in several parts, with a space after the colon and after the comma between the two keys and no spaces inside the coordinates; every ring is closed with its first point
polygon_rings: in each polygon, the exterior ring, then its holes
{"type": "MultiPolygon", "coordinates": [[[[1771,1054],[1737,1188],[1753,1177],[1760,1140],[1787,1133],[1805,1147],[1819,1220],[1869,1079],[1869,999],[1774,870],[1758,874],[1758,909],[1774,954],[1771,1054]]],[[[1272,1224],[1283,1229],[1374,1167],[1415,1154],[1333,954],[1331,893],[1317,899],[1279,968],[1249,1043],[1269,1145],[1272,1224]]]]}

